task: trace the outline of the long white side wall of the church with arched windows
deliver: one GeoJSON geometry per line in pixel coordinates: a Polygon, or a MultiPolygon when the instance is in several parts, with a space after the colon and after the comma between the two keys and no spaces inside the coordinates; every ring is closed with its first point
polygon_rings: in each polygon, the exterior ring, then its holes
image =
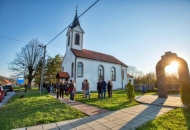
{"type": "MultiPolygon", "coordinates": [[[[108,63],[103,61],[96,61],[91,59],[84,59],[84,58],[77,58],[76,65],[78,62],[83,63],[83,77],[76,77],[76,87],[77,91],[81,91],[82,82],[84,79],[88,79],[90,85],[91,85],[91,91],[96,91],[96,85],[98,82],[98,66],[102,65],[104,67],[104,80],[108,82],[109,79],[111,79],[111,67],[115,67],[116,69],[116,81],[112,81],[113,83],[113,89],[121,89],[122,88],[122,79],[121,79],[121,65],[114,64],[114,63],[108,63]]],[[[124,67],[126,70],[126,67],[124,67]]],[[[126,73],[126,71],[124,71],[126,73]]],[[[76,68],[77,73],[77,68],[76,68]]],[[[124,74],[126,75],[126,74],[124,74]]],[[[123,80],[123,86],[127,84],[127,78],[124,77],[123,80]]]]}

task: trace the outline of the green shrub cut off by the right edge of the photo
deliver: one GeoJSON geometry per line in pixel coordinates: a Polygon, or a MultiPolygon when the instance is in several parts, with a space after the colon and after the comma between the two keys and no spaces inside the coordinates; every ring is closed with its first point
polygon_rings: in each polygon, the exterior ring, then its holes
{"type": "Polygon", "coordinates": [[[190,109],[190,83],[184,81],[181,85],[181,102],[185,105],[185,107],[189,110],[190,109]]]}

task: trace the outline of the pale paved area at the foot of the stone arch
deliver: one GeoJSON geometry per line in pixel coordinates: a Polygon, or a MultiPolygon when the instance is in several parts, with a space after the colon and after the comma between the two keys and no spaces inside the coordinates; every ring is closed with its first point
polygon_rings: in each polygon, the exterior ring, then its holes
{"type": "Polygon", "coordinates": [[[158,95],[144,95],[135,97],[135,100],[143,104],[153,104],[175,108],[183,106],[179,95],[169,95],[168,98],[158,98],[158,95]]]}

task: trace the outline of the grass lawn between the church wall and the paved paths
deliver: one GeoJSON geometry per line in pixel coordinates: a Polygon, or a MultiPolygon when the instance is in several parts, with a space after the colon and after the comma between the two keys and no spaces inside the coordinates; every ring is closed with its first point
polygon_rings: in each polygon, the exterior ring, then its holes
{"type": "MultiPolygon", "coordinates": [[[[141,91],[135,91],[135,96],[141,95],[141,91]]],[[[155,94],[155,92],[147,92],[146,94],[155,94]]],[[[124,90],[117,90],[113,91],[113,97],[112,98],[106,98],[103,100],[100,100],[98,98],[97,92],[91,92],[90,99],[83,98],[82,94],[79,93],[75,97],[75,100],[79,102],[83,102],[92,106],[96,106],[99,108],[107,109],[110,111],[120,110],[123,108],[131,107],[138,105],[139,103],[132,101],[130,102],[127,99],[127,92],[124,90]]],[[[106,93],[106,96],[108,96],[108,93],[106,93]]]]}

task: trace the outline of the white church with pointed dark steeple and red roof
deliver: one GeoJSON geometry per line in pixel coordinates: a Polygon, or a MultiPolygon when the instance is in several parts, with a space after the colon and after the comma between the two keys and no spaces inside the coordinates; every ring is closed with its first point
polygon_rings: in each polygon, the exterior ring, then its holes
{"type": "Polygon", "coordinates": [[[96,91],[99,79],[112,80],[113,89],[125,88],[128,66],[114,56],[84,49],[83,35],[76,13],[67,30],[66,53],[58,77],[74,80],[77,91],[81,91],[84,79],[88,79],[91,91],[96,91]]]}

